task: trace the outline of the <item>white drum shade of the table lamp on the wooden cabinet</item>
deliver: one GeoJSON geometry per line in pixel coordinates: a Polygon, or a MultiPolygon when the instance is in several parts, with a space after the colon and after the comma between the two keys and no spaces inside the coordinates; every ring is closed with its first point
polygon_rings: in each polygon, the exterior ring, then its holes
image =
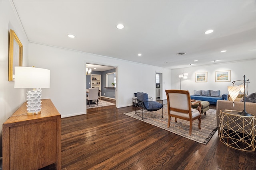
{"type": "Polygon", "coordinates": [[[50,88],[50,70],[16,66],[14,88],[50,88]]]}

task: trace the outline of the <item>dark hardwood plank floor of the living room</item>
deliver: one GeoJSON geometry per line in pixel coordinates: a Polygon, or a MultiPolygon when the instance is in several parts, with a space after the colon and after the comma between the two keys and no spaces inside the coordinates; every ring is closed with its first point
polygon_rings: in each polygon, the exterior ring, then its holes
{"type": "Polygon", "coordinates": [[[123,114],[134,109],[98,107],[62,118],[62,170],[256,169],[256,152],[227,147],[217,132],[202,145],[123,114]]]}

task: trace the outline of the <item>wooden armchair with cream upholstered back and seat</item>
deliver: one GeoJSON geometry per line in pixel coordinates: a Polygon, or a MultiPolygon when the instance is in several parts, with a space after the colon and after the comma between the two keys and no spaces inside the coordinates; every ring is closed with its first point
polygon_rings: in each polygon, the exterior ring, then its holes
{"type": "Polygon", "coordinates": [[[201,103],[199,101],[191,102],[190,94],[187,90],[165,90],[168,107],[168,128],[170,127],[171,117],[190,121],[189,135],[192,132],[192,121],[198,119],[198,129],[201,129],[201,103]],[[199,104],[197,109],[191,108],[194,104],[199,104]]]}

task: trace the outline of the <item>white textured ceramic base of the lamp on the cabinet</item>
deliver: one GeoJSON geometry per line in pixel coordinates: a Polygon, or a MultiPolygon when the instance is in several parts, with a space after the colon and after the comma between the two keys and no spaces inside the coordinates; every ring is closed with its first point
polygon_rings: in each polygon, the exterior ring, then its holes
{"type": "Polygon", "coordinates": [[[36,115],[41,113],[42,90],[40,88],[27,91],[27,111],[28,115],[36,115]]]}

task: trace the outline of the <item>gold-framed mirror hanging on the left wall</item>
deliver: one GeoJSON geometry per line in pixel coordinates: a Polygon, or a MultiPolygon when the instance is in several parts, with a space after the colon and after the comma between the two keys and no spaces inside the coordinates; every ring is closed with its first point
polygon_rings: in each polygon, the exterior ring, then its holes
{"type": "Polygon", "coordinates": [[[15,66],[22,66],[23,46],[16,33],[10,29],[9,46],[9,81],[15,80],[15,66]]]}

